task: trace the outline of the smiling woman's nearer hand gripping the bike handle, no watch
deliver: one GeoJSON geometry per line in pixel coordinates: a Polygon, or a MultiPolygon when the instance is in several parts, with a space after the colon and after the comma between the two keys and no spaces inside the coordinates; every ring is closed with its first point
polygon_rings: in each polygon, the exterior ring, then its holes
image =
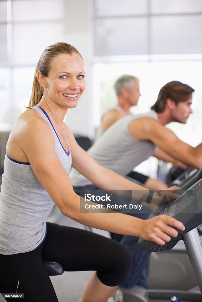
{"type": "Polygon", "coordinates": [[[171,240],[171,237],[177,237],[178,232],[174,229],[184,231],[184,224],[173,217],[160,215],[151,219],[142,220],[140,237],[145,240],[154,241],[159,245],[164,245],[171,240]]]}

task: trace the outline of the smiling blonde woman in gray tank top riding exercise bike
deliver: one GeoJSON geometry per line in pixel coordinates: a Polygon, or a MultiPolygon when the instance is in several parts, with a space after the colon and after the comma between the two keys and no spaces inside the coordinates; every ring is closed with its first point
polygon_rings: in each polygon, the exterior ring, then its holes
{"type": "Polygon", "coordinates": [[[68,176],[71,165],[101,189],[137,190],[135,197],[139,194],[147,201],[153,195],[98,165],[63,122],[84,92],[84,74],[75,47],[67,43],[47,47],[36,66],[29,109],[18,118],[6,146],[0,195],[0,292],[24,293],[26,302],[58,302],[41,260],[59,262],[64,271],[96,271],[80,302],[106,301],[132,263],[128,250],[111,239],[46,223],[54,204],[82,224],[157,244],[177,236],[173,227],[184,230],[182,223],[164,215],[141,220],[112,211],[81,213],[80,196],[68,176]]]}

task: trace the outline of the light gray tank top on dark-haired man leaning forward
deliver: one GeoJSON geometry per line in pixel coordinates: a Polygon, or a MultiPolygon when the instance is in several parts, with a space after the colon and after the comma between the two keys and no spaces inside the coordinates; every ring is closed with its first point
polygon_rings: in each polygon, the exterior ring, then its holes
{"type": "MultiPolygon", "coordinates": [[[[128,125],[131,121],[142,117],[158,119],[157,113],[153,110],[145,114],[123,117],[102,134],[88,149],[88,154],[101,166],[119,175],[127,175],[134,167],[153,155],[157,149],[153,143],[135,140],[128,132],[128,125]]],[[[69,176],[75,187],[92,184],[75,169],[71,169],[69,176]]]]}

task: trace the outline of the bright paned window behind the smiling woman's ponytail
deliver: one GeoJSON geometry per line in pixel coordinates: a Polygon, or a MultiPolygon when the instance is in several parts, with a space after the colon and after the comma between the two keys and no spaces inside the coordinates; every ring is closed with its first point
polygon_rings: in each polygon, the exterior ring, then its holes
{"type": "Polygon", "coordinates": [[[63,4],[63,0],[0,1],[1,131],[11,130],[28,105],[42,51],[63,40],[63,4]]]}

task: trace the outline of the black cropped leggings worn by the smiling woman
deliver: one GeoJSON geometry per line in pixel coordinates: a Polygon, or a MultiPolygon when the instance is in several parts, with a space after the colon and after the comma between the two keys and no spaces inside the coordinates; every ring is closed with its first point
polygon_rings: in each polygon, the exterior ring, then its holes
{"type": "MultiPolygon", "coordinates": [[[[37,249],[0,254],[0,292],[25,294],[25,302],[58,302],[42,260],[59,262],[64,271],[97,271],[100,281],[116,286],[127,275],[132,256],[112,239],[85,230],[47,223],[47,235],[37,249]]],[[[14,299],[7,299],[14,302],[14,299]]]]}

